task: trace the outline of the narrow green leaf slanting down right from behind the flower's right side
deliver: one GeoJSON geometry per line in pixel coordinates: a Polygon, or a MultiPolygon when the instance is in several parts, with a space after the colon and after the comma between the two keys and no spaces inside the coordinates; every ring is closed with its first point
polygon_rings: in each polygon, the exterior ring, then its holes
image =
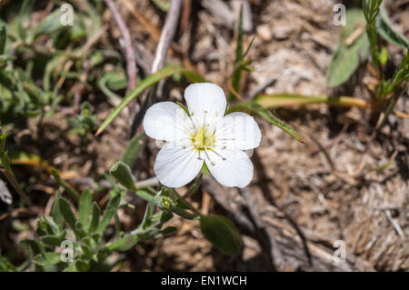
{"type": "Polygon", "coordinates": [[[301,136],[298,135],[290,125],[286,125],[283,121],[275,117],[269,110],[264,108],[263,105],[257,104],[255,102],[239,103],[239,104],[233,105],[229,109],[229,113],[241,112],[241,111],[248,111],[250,113],[261,116],[266,121],[270,122],[272,125],[279,127],[288,135],[291,135],[296,140],[304,143],[301,136]]]}

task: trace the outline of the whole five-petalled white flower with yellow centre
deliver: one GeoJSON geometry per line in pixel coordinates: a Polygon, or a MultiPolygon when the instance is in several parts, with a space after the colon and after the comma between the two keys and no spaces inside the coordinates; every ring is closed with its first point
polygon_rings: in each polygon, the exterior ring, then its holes
{"type": "Polygon", "coordinates": [[[146,135],[165,141],[155,161],[155,175],[167,187],[191,182],[205,165],[225,186],[243,188],[253,178],[253,164],[244,150],[260,144],[254,118],[224,115],[226,99],[218,85],[203,83],[185,89],[189,115],[172,102],[152,105],[146,112],[146,135]]]}

